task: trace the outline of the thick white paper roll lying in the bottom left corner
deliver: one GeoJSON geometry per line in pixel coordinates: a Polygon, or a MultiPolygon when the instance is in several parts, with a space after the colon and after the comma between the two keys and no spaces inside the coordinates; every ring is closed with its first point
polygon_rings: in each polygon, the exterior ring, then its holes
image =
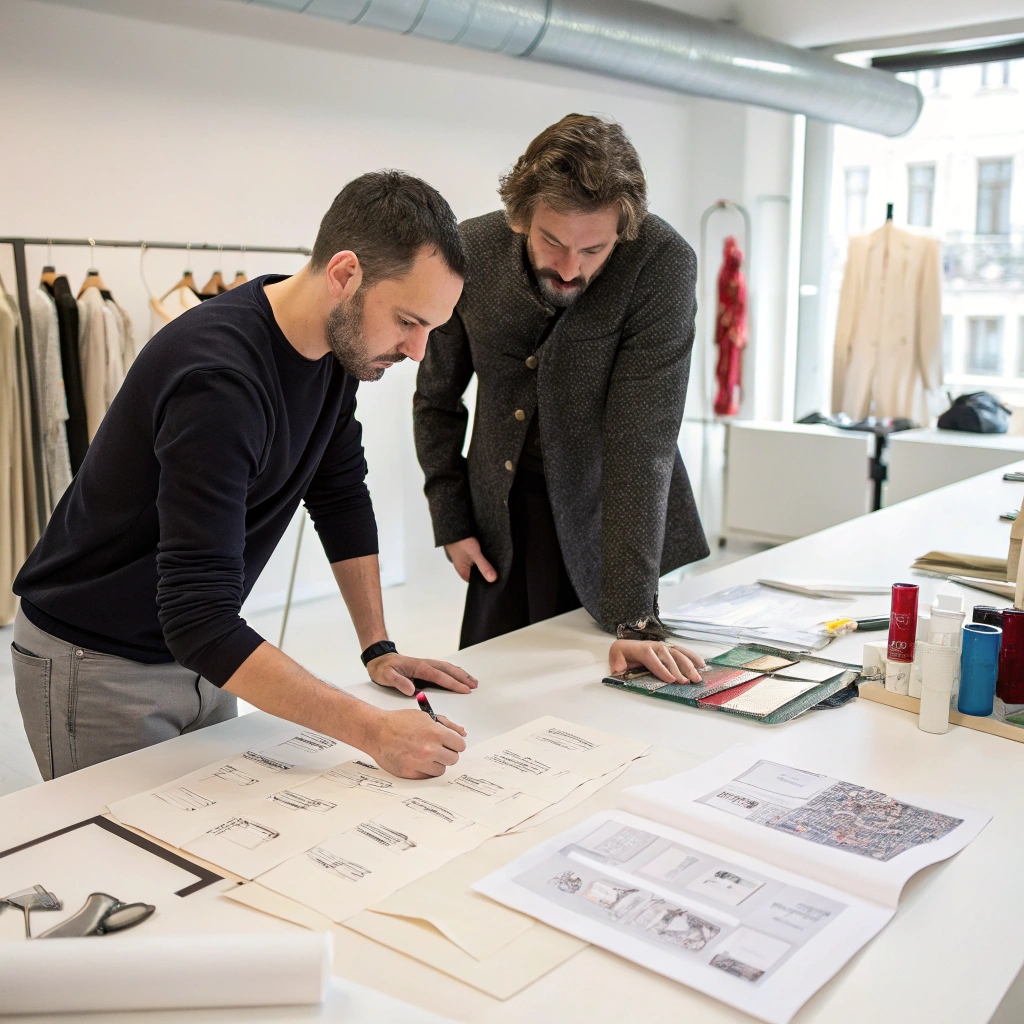
{"type": "Polygon", "coordinates": [[[330,932],[5,942],[0,1013],[309,1006],[333,958],[330,932]]]}

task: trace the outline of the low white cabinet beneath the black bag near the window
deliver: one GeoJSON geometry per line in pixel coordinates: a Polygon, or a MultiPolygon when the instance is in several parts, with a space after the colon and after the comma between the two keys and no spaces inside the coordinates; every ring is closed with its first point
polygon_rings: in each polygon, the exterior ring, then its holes
{"type": "Polygon", "coordinates": [[[887,452],[885,506],[1024,459],[1024,435],[903,430],[889,435],[887,452]]]}

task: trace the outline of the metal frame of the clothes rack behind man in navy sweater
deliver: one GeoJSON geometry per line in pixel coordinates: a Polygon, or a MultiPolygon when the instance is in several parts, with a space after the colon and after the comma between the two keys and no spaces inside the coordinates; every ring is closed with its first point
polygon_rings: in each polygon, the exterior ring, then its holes
{"type": "MultiPolygon", "coordinates": [[[[17,279],[17,302],[22,313],[22,334],[25,339],[26,361],[29,367],[29,409],[32,421],[32,450],[37,458],[34,460],[33,469],[36,477],[36,511],[39,517],[39,529],[42,531],[46,525],[49,513],[43,504],[43,476],[42,462],[39,456],[42,454],[42,426],[40,423],[40,410],[36,401],[36,359],[33,350],[32,340],[32,309],[29,306],[29,269],[25,258],[26,246],[61,246],[65,248],[91,248],[100,247],[103,249],[175,249],[182,252],[242,252],[242,253],[274,253],[289,256],[309,256],[311,250],[304,246],[242,246],[224,245],[222,243],[210,242],[145,242],[143,240],[125,241],[120,239],[42,239],[42,238],[16,238],[0,237],[0,244],[8,245],[14,254],[14,276],[17,279]]],[[[288,586],[288,594],[285,600],[284,616],[281,627],[281,639],[285,639],[285,627],[288,624],[288,612],[292,604],[292,591],[295,587],[295,573],[299,565],[299,552],[302,548],[302,523],[299,525],[299,537],[295,545],[295,555],[292,559],[291,582],[288,586]]]]}

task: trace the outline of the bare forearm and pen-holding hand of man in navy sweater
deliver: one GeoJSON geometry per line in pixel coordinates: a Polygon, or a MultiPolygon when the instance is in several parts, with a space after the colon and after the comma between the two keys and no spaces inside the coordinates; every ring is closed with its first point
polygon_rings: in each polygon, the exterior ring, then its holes
{"type": "Polygon", "coordinates": [[[365,752],[399,778],[442,775],[466,750],[466,730],[461,725],[441,715],[434,722],[418,708],[375,708],[317,679],[266,641],[239,666],[223,688],[268,715],[365,752]]]}

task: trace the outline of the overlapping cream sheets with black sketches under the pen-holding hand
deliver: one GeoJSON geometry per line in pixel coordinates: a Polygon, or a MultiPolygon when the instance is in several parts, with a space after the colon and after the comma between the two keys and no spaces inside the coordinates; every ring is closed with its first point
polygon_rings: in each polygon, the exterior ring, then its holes
{"type": "Polygon", "coordinates": [[[112,804],[125,824],[342,922],[642,756],[649,743],[546,717],[397,778],[285,734],[112,804]]]}

